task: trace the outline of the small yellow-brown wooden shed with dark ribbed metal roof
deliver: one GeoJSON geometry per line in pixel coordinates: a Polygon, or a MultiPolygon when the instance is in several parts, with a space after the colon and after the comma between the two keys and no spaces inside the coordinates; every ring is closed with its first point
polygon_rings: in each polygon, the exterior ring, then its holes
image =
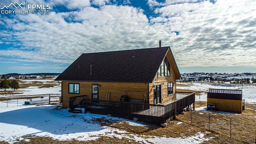
{"type": "Polygon", "coordinates": [[[207,94],[207,106],[208,104],[215,104],[217,111],[242,113],[242,90],[210,88],[207,94]]]}

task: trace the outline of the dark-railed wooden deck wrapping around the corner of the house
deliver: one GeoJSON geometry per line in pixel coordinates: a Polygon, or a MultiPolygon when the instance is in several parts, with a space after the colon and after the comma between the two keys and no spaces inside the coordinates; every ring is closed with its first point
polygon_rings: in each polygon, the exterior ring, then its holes
{"type": "MultiPolygon", "coordinates": [[[[70,102],[72,102],[70,106],[72,108],[85,108],[86,112],[94,114],[111,114],[112,116],[126,119],[138,118],[139,121],[161,124],[167,120],[174,119],[176,113],[178,114],[178,112],[194,103],[193,96],[194,93],[188,93],[187,96],[166,105],[81,99],[83,96],[76,96],[75,98],[70,98],[70,102]]],[[[70,107],[70,109],[72,108],[70,107]]]]}

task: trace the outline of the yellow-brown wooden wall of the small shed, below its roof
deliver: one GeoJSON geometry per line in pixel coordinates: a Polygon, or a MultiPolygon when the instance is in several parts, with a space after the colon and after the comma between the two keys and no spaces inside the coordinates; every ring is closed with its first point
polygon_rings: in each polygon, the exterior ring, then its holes
{"type": "Polygon", "coordinates": [[[207,103],[214,103],[218,111],[242,113],[242,100],[207,98],[207,103]]]}

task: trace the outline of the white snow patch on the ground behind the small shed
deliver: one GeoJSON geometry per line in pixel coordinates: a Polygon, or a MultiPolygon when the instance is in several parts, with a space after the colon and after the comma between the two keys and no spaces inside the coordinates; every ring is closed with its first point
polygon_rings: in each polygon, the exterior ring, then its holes
{"type": "Polygon", "coordinates": [[[196,101],[207,101],[207,92],[209,88],[215,89],[231,89],[231,90],[242,90],[242,99],[245,100],[246,103],[256,103],[256,85],[243,85],[243,84],[208,84],[208,83],[200,83],[200,82],[192,82],[192,83],[178,83],[183,86],[177,86],[177,89],[181,90],[194,90],[199,91],[199,95],[196,95],[196,101]],[[205,93],[206,92],[206,93],[205,93]]]}

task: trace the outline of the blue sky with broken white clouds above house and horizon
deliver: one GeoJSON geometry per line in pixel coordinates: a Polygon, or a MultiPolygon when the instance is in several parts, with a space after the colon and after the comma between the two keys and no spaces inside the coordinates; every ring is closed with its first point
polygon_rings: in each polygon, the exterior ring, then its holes
{"type": "Polygon", "coordinates": [[[180,73],[256,72],[256,0],[17,2],[23,10],[50,4],[49,14],[1,10],[0,74],[61,73],[82,53],[158,47],[158,40],[171,46],[180,73]]]}

